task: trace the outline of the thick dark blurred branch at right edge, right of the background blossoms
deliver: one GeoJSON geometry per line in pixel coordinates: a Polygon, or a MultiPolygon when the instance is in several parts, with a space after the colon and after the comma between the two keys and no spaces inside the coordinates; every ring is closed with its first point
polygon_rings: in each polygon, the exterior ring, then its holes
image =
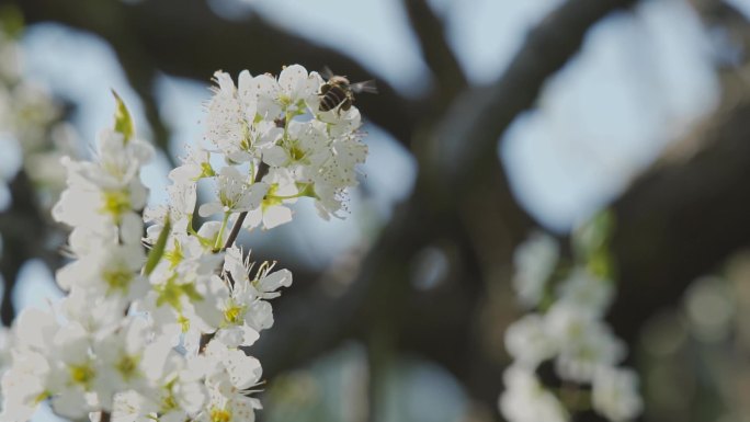
{"type": "Polygon", "coordinates": [[[750,244],[749,122],[747,103],[719,116],[702,136],[708,147],[645,174],[615,202],[622,287],[612,321],[627,341],[695,277],[750,244]]]}

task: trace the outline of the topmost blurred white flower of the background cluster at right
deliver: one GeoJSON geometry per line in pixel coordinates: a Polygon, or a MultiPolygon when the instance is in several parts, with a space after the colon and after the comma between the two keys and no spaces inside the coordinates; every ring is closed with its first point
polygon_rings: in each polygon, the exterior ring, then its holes
{"type": "Polygon", "coordinates": [[[515,249],[513,287],[521,304],[526,307],[535,307],[539,304],[547,280],[557,265],[558,256],[557,241],[541,231],[533,232],[515,249]]]}

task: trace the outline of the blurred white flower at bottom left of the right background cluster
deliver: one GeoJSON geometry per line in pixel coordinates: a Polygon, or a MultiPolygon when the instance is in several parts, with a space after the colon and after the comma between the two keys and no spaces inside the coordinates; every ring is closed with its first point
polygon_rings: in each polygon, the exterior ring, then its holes
{"type": "Polygon", "coordinates": [[[505,391],[500,412],[510,422],[565,422],[568,414],[560,401],[538,381],[533,372],[510,366],[502,376],[505,391]]]}

